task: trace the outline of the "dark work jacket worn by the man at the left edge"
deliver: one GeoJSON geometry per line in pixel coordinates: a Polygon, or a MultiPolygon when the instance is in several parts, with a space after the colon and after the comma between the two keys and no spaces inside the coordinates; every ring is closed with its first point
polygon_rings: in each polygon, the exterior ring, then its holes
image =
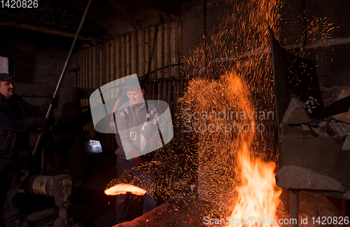
{"type": "MultiPolygon", "coordinates": [[[[26,132],[23,127],[23,120],[26,117],[42,115],[40,106],[33,106],[18,95],[13,95],[11,102],[19,104],[21,113],[15,114],[14,110],[8,106],[6,99],[0,95],[0,157],[3,158],[13,157],[18,133],[26,132]],[[15,118],[16,115],[22,116],[22,119],[15,118]]],[[[27,142],[29,144],[29,136],[27,142]]]]}

